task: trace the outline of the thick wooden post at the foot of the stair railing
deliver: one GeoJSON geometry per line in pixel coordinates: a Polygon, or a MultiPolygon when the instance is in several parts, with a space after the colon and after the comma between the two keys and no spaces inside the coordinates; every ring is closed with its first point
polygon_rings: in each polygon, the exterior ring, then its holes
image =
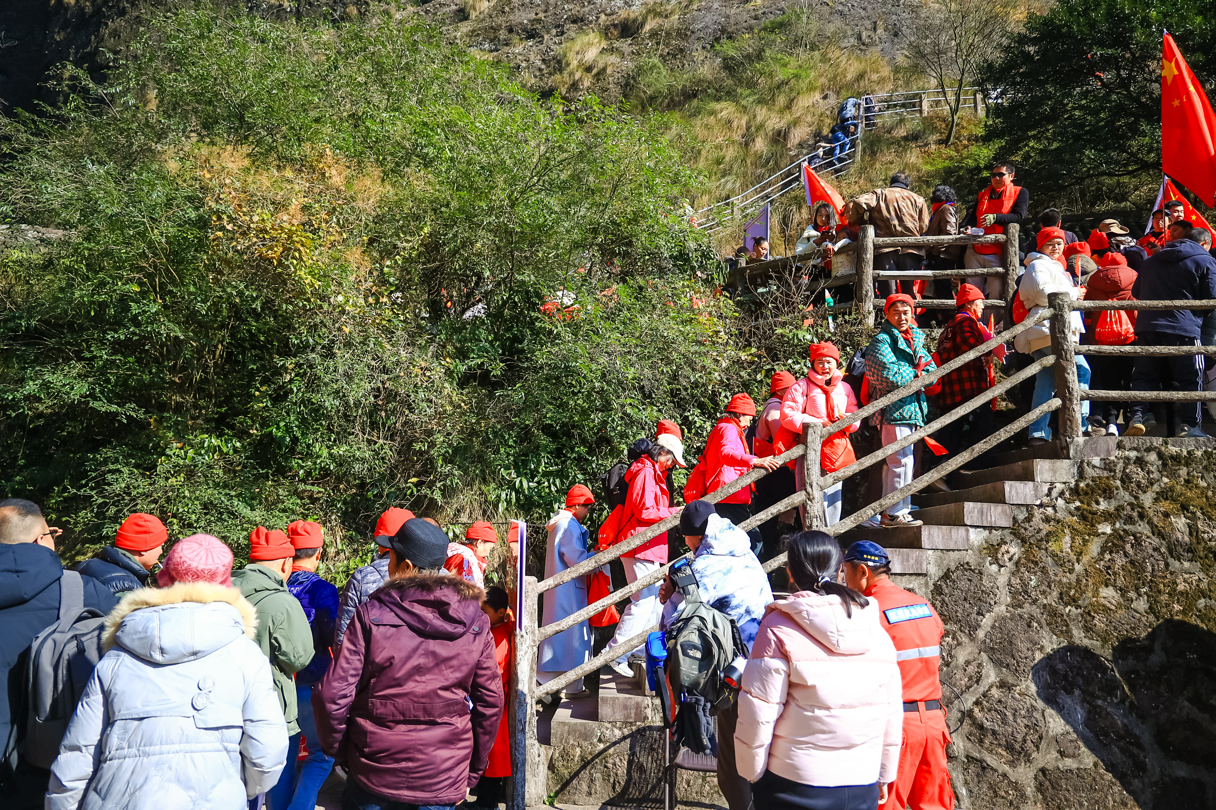
{"type": "Polygon", "coordinates": [[[510,810],[525,810],[545,803],[547,780],[536,741],[536,707],[533,685],[536,682],[536,578],[525,576],[523,589],[523,628],[516,631],[516,671],[512,675],[514,699],[508,707],[511,721],[512,789],[510,810]]]}

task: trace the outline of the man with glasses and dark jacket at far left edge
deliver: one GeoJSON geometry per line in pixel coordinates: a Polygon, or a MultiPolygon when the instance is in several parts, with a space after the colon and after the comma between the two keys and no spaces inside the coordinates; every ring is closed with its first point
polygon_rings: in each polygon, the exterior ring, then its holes
{"type": "MultiPolygon", "coordinates": [[[[21,739],[15,731],[27,707],[11,704],[24,677],[24,653],[39,632],[55,624],[60,613],[60,580],[63,564],[55,555],[60,530],[46,525],[36,504],[19,499],[0,501],[0,795],[5,808],[41,808],[49,771],[33,767],[17,754],[21,739]]],[[[108,587],[81,576],[84,607],[102,615],[118,604],[108,587]]]]}

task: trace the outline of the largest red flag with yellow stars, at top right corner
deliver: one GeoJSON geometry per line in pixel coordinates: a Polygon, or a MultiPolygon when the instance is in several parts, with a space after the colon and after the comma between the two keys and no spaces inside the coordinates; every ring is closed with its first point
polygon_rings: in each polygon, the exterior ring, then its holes
{"type": "Polygon", "coordinates": [[[1170,34],[1161,44],[1161,170],[1216,206],[1216,114],[1170,34]]]}

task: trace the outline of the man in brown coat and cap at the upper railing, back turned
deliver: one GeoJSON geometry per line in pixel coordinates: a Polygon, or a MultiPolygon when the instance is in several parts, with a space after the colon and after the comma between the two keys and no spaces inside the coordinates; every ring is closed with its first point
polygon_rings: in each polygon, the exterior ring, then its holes
{"type": "MultiPolygon", "coordinates": [[[[886,189],[874,189],[850,199],[844,215],[854,227],[865,225],[868,220],[878,238],[923,236],[929,229],[929,207],[921,195],[908,190],[911,185],[907,171],[896,171],[886,189]]],[[[919,270],[923,260],[923,248],[882,248],[874,251],[874,271],[919,270]]],[[[897,292],[912,294],[911,281],[901,281],[900,288],[896,288],[894,281],[882,281],[878,288],[883,296],[897,292]]]]}

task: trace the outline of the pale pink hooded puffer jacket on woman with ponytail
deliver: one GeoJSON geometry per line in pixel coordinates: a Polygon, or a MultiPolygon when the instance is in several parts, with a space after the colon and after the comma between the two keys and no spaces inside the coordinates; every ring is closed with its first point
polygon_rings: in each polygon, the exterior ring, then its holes
{"type": "Polygon", "coordinates": [[[878,603],[800,591],[773,604],[743,670],[734,755],[753,782],[771,770],[801,784],[893,782],[903,736],[895,645],[878,603]]]}

